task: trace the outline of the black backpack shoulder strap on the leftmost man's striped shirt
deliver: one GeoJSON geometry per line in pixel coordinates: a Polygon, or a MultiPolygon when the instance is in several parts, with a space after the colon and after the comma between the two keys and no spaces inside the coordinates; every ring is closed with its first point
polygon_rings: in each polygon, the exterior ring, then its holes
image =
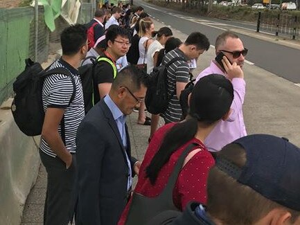
{"type": "MultiPolygon", "coordinates": [[[[71,74],[71,72],[69,70],[67,70],[63,67],[57,67],[57,68],[53,68],[53,69],[47,71],[46,73],[44,73],[44,76],[53,75],[53,74],[64,74],[71,78],[71,82],[73,84],[73,93],[72,93],[71,99],[69,101],[69,105],[70,105],[71,102],[74,100],[75,94],[76,94],[76,83],[73,78],[73,75],[71,74]]],[[[68,105],[68,107],[69,107],[69,105],[68,105]]],[[[65,127],[64,127],[64,115],[63,115],[62,120],[60,121],[60,135],[62,136],[62,141],[64,143],[64,146],[66,146],[66,134],[65,134],[64,128],[65,127]]]]}

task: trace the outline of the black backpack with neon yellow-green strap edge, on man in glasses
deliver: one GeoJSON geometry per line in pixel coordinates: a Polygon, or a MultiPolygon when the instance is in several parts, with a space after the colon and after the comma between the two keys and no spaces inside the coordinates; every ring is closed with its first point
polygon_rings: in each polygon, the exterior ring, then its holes
{"type": "Polygon", "coordinates": [[[82,61],[85,62],[86,60],[91,60],[91,64],[85,64],[83,66],[80,66],[78,68],[81,84],[82,84],[82,92],[83,92],[83,99],[85,100],[85,114],[95,105],[94,102],[94,69],[96,64],[101,61],[105,61],[112,65],[112,68],[114,69],[114,78],[116,78],[117,69],[114,65],[114,62],[109,60],[107,57],[98,56],[97,58],[94,56],[86,57],[85,60],[82,61]]]}

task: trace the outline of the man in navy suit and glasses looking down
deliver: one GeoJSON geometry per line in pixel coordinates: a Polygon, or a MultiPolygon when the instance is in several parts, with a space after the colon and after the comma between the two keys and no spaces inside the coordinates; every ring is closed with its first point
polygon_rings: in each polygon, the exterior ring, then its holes
{"type": "Polygon", "coordinates": [[[117,224],[140,161],[130,154],[126,116],[145,98],[145,74],[125,67],[109,94],[78,128],[78,206],[76,225],[117,224]]]}

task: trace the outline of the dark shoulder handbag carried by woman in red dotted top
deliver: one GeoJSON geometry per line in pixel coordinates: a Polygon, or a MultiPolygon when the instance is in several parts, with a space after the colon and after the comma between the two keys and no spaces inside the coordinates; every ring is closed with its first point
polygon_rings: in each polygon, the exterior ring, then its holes
{"type": "Polygon", "coordinates": [[[148,224],[152,219],[164,213],[179,211],[173,203],[173,189],[178,174],[182,169],[184,159],[186,159],[188,153],[197,145],[197,143],[191,143],[186,147],[184,152],[182,152],[172,174],[170,174],[166,187],[157,197],[145,197],[144,195],[133,192],[132,202],[125,222],[126,225],[148,224]]]}

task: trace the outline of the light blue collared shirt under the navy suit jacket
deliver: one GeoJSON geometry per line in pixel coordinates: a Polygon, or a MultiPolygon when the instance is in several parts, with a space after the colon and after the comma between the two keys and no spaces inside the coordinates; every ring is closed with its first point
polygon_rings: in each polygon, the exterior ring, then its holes
{"type": "Polygon", "coordinates": [[[104,97],[104,101],[109,107],[109,110],[112,112],[112,116],[114,117],[114,121],[116,122],[116,125],[118,127],[118,132],[120,133],[122,142],[123,142],[123,150],[126,156],[127,165],[128,165],[128,181],[127,181],[127,190],[130,190],[130,187],[132,185],[132,170],[130,166],[130,159],[126,152],[127,147],[127,136],[126,136],[126,130],[125,130],[125,123],[126,123],[126,116],[122,113],[122,111],[117,107],[117,105],[113,102],[112,98],[110,98],[109,95],[104,97]]]}

